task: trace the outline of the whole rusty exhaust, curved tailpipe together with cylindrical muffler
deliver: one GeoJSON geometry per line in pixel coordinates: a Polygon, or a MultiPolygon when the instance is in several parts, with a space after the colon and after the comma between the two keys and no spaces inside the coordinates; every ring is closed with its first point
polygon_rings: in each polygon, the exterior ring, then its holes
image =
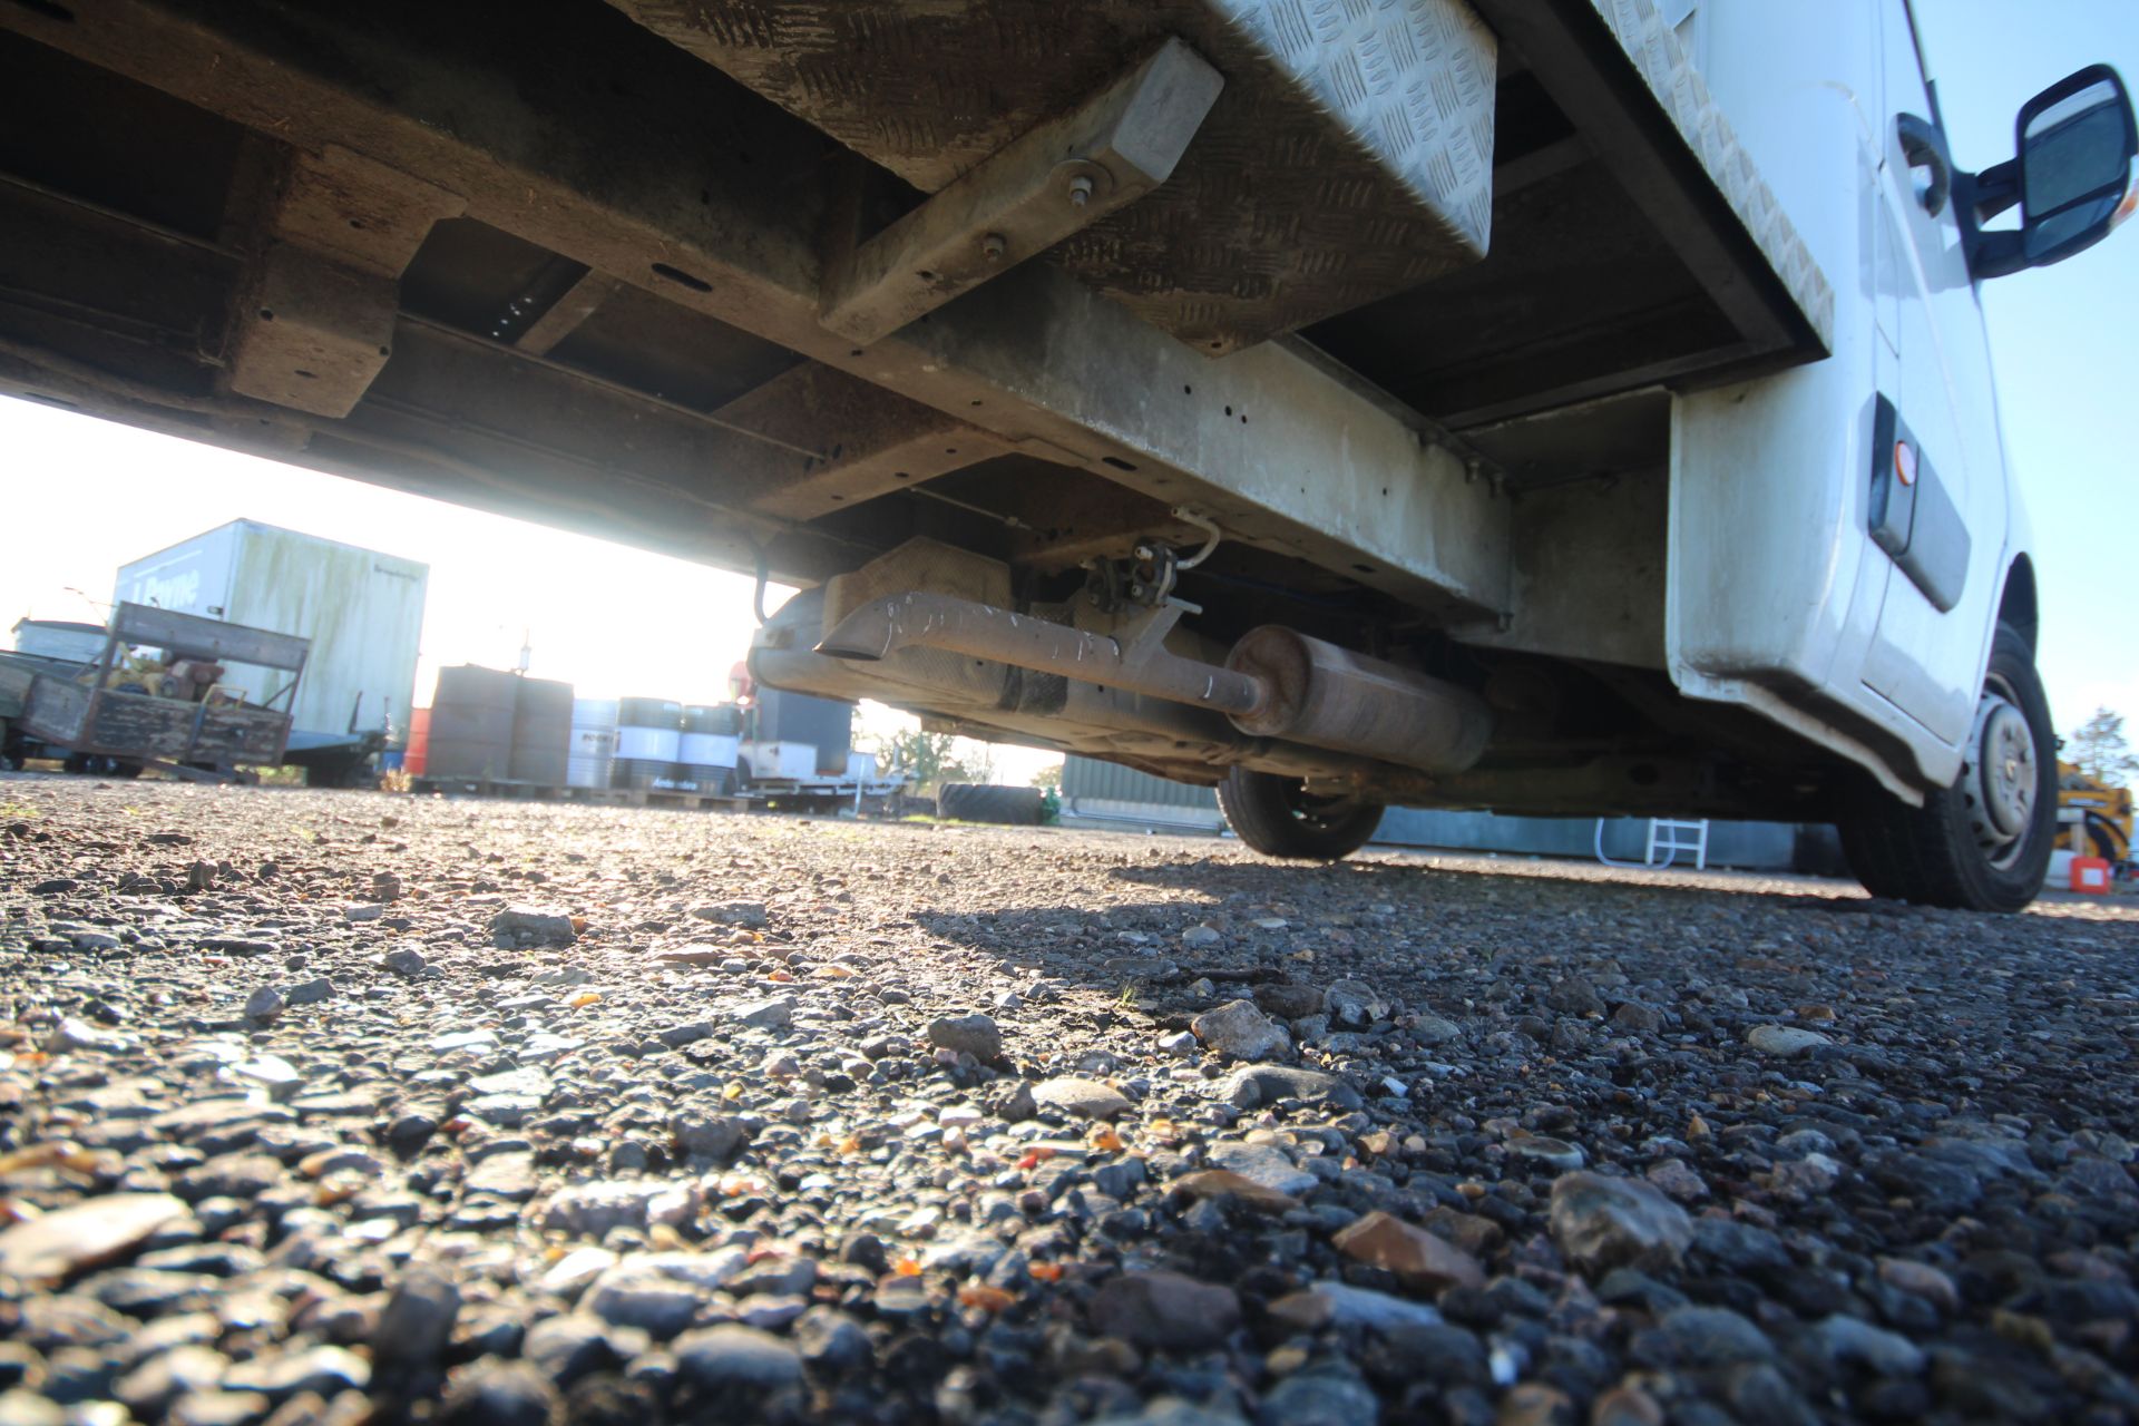
{"type": "Polygon", "coordinates": [[[1179,618],[1181,611],[1170,605],[1153,609],[1127,639],[1117,639],[913,590],[862,605],[826,635],[817,652],[877,661],[903,648],[941,648],[1211,708],[1256,738],[1420,772],[1463,772],[1484,753],[1493,714],[1467,688],[1279,624],[1243,635],[1226,667],[1217,667],[1164,648],[1179,618]]]}

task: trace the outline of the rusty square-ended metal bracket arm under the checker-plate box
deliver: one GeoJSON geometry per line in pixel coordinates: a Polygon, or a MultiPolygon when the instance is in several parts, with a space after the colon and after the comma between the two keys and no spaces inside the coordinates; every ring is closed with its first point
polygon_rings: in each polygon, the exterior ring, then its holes
{"type": "Polygon", "coordinates": [[[826,278],[819,321],[875,342],[1134,203],[1172,175],[1224,83],[1168,38],[853,248],[826,278]]]}

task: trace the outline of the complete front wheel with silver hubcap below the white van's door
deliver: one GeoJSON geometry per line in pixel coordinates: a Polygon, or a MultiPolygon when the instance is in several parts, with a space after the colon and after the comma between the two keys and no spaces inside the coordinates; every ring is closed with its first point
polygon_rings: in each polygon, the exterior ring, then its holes
{"type": "Polygon", "coordinates": [[[1865,789],[1840,832],[1874,896],[1955,911],[2019,911],[2036,898],[2058,836],[2058,733],[2017,629],[1998,624],[1953,787],[1921,808],[1865,789]]]}

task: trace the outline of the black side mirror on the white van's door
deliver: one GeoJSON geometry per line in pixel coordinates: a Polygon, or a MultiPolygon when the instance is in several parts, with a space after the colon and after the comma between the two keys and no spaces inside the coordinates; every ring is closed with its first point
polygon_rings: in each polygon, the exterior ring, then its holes
{"type": "Polygon", "coordinates": [[[2133,158],[2139,126],[2124,79],[2107,64],[2066,75],[2026,105],[2013,124],[2015,158],[1961,175],[1968,269],[2002,278],[2062,263],[2092,248],[2139,205],[2133,158]],[[2019,231],[1976,229],[2019,203],[2019,231]]]}

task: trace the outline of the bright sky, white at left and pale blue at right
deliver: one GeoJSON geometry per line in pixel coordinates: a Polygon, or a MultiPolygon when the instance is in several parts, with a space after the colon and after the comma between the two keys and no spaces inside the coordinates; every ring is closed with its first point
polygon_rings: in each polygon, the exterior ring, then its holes
{"type": "MultiPolygon", "coordinates": [[[[2009,158],[2019,105],[2081,64],[2139,81],[2133,0],[1917,0],[1917,15],[1964,167],[2009,158]]],[[[2098,706],[2139,725],[2139,222],[1981,293],[2034,524],[2051,710],[2064,731],[2098,706]]],[[[522,639],[533,673],[582,695],[721,701],[755,624],[742,575],[0,398],[0,629],[101,620],[120,564],[237,517],[430,564],[419,703],[438,665],[513,667],[522,639]],[[43,534],[21,539],[30,520],[43,534]]],[[[864,727],[896,725],[864,710],[864,727]]],[[[1048,761],[1007,750],[997,776],[1048,761]]]]}

